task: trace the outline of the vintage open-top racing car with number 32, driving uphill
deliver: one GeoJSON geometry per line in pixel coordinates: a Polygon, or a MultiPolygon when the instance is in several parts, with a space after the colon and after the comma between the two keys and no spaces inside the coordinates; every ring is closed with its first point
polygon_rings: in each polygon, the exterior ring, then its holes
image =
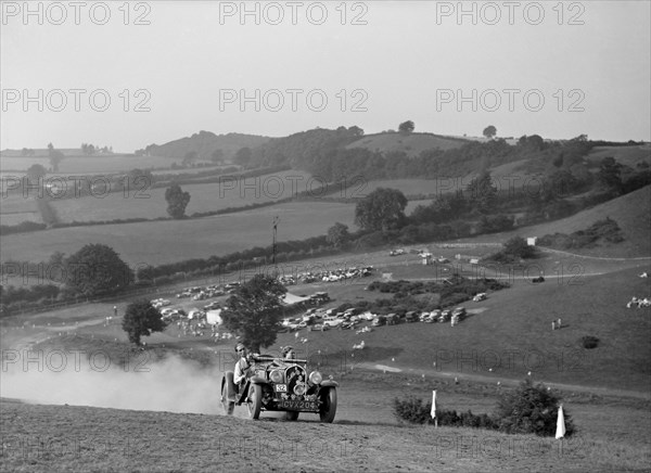
{"type": "Polygon", "coordinates": [[[232,371],[221,379],[221,402],[227,414],[233,413],[235,405],[246,404],[251,419],[258,419],[265,410],[285,411],[285,419],[291,421],[301,412],[318,413],[321,422],[334,420],[339,383],[323,380],[318,371],[308,375],[307,360],[257,355],[252,361],[252,375],[240,392],[232,371]]]}

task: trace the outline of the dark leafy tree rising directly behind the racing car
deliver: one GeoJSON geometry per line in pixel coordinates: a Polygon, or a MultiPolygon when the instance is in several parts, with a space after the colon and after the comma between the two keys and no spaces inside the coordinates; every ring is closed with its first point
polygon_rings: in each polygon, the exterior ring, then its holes
{"type": "Polygon", "coordinates": [[[256,274],[226,301],[224,325],[255,353],[276,342],[286,289],[276,278],[256,274]]]}

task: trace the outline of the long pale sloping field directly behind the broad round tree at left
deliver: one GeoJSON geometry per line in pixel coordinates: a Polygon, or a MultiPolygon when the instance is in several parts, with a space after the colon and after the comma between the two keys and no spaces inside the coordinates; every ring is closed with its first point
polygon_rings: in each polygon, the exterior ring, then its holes
{"type": "Polygon", "coordinates": [[[54,252],[71,255],[87,243],[113,247],[130,265],[159,265],[226,255],[271,244],[271,223],[280,217],[278,241],[326,234],[333,222],[356,227],[354,205],[288,203],[192,220],[61,228],[2,238],[2,259],[42,261],[54,252]]]}

